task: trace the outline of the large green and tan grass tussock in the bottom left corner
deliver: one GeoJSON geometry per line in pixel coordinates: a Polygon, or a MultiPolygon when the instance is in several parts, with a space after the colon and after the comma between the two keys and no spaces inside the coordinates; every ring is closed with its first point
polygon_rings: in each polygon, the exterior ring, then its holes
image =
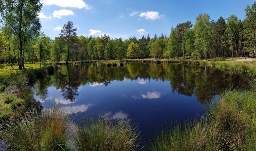
{"type": "Polygon", "coordinates": [[[41,114],[35,112],[22,116],[19,121],[4,123],[1,134],[12,150],[69,151],[69,123],[66,111],[55,106],[41,114]]]}

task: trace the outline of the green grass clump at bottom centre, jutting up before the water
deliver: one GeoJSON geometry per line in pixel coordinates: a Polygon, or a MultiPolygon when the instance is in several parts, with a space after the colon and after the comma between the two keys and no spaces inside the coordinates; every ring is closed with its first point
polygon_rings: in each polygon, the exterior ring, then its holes
{"type": "Polygon", "coordinates": [[[99,118],[79,125],[76,132],[78,151],[133,151],[139,145],[139,133],[125,122],[99,118]]]}

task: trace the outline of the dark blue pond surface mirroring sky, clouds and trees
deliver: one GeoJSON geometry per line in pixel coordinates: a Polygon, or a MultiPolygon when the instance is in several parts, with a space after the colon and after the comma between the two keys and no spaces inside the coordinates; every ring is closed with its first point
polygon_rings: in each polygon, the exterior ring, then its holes
{"type": "MultiPolygon", "coordinates": [[[[43,106],[60,102],[76,119],[103,115],[137,123],[143,138],[170,120],[185,122],[204,113],[225,89],[242,88],[248,74],[183,64],[95,63],[61,66],[33,86],[43,106]]],[[[79,122],[79,121],[77,121],[79,122]]]]}

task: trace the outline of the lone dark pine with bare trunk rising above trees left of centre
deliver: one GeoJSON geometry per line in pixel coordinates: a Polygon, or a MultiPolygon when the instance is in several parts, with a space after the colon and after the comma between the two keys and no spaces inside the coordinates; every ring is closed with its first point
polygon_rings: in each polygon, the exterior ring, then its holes
{"type": "Polygon", "coordinates": [[[68,64],[68,59],[69,59],[69,40],[72,37],[76,36],[75,31],[77,30],[76,28],[73,28],[73,22],[72,21],[67,21],[67,24],[64,24],[61,30],[61,37],[64,38],[66,44],[67,44],[67,58],[66,58],[66,64],[68,64]]]}

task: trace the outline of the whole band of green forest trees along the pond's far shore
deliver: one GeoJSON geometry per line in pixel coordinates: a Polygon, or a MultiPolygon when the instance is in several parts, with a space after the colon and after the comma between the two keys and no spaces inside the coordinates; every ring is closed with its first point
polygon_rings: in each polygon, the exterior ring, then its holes
{"type": "Polygon", "coordinates": [[[0,0],[0,62],[10,65],[24,62],[45,64],[47,60],[105,60],[135,58],[194,58],[255,57],[256,3],[246,6],[245,19],[231,15],[211,20],[208,14],[199,14],[191,21],[171,28],[170,36],[123,40],[76,34],[72,21],[64,24],[59,37],[51,39],[40,31],[39,0],[0,0]]]}

